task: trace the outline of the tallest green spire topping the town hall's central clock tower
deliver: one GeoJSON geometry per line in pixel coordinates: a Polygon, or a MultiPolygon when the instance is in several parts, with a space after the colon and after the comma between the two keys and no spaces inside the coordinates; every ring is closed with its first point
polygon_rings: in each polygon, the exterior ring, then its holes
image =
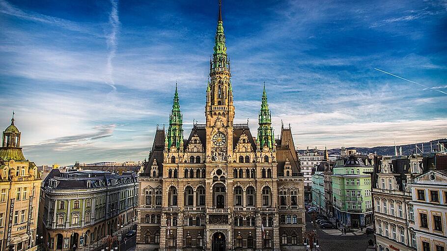
{"type": "Polygon", "coordinates": [[[214,37],[213,68],[227,68],[225,34],[223,33],[222,0],[219,1],[219,17],[214,37]]]}

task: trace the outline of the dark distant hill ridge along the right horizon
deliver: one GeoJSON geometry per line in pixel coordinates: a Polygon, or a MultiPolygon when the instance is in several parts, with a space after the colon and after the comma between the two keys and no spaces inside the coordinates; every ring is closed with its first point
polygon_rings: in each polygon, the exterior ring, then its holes
{"type": "MultiPolygon", "coordinates": [[[[429,142],[419,142],[416,144],[407,144],[407,145],[397,145],[397,154],[399,154],[399,148],[402,147],[402,155],[410,155],[416,152],[415,145],[417,145],[418,153],[420,153],[420,150],[423,150],[424,152],[430,152],[433,147],[433,150],[438,149],[438,142],[444,143],[444,146],[447,147],[447,139],[435,139],[431,140],[429,142]],[[431,143],[431,146],[430,146],[431,143]]],[[[375,147],[346,147],[346,149],[356,149],[357,152],[368,154],[368,153],[377,153],[377,155],[394,155],[394,145],[391,146],[375,146],[375,147]]],[[[329,155],[339,155],[340,154],[340,148],[334,148],[329,150],[329,155]]]]}

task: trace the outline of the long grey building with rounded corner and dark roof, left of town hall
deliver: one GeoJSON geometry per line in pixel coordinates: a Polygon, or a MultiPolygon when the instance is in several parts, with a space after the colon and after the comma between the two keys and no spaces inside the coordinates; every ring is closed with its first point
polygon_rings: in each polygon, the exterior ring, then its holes
{"type": "Polygon", "coordinates": [[[88,246],[132,223],[138,185],[134,172],[51,170],[42,182],[39,212],[48,250],[88,246]]]}

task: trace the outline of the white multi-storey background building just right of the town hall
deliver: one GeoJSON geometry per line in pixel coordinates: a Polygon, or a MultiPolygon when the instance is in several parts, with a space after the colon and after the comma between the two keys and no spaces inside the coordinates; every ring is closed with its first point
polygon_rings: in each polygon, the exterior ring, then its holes
{"type": "Polygon", "coordinates": [[[304,200],[305,202],[312,202],[312,171],[315,170],[324,156],[318,154],[318,150],[309,149],[307,147],[303,155],[298,155],[300,160],[301,172],[304,175],[304,200]]]}

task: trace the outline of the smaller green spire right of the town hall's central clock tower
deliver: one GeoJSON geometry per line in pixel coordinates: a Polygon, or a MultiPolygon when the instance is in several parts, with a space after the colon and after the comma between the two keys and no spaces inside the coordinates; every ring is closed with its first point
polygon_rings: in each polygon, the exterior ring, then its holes
{"type": "Polygon", "coordinates": [[[261,110],[259,111],[258,139],[259,139],[259,146],[261,148],[264,147],[264,145],[267,145],[270,148],[270,150],[273,149],[275,136],[273,134],[273,128],[272,128],[272,115],[270,113],[269,104],[267,102],[265,81],[264,81],[264,91],[262,92],[262,99],[261,99],[261,110]]]}

